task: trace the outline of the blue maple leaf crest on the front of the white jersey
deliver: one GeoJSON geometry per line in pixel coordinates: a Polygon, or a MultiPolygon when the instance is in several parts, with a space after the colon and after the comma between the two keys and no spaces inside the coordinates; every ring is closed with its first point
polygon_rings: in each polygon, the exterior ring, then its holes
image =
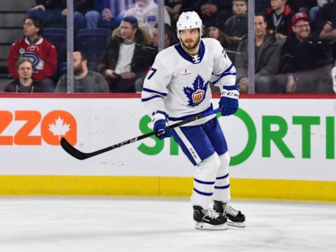
{"type": "Polygon", "coordinates": [[[198,106],[204,101],[208,85],[209,81],[204,83],[203,78],[200,75],[197,75],[193,83],[194,88],[183,87],[183,92],[188,97],[188,106],[198,106]]]}

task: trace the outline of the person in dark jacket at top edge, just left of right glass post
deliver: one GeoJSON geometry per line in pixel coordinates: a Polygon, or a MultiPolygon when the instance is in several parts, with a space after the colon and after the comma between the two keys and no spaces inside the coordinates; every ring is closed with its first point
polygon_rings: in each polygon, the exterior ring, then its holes
{"type": "Polygon", "coordinates": [[[242,38],[248,33],[247,1],[233,0],[232,10],[234,15],[226,20],[224,31],[229,36],[242,38]]]}

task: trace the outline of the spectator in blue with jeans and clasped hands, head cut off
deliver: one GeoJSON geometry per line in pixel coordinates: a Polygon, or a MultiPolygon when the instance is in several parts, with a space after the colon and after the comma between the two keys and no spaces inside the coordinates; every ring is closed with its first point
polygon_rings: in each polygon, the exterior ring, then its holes
{"type": "Polygon", "coordinates": [[[116,29],[122,19],[118,16],[119,4],[119,1],[93,0],[93,10],[85,14],[86,28],[116,29]]]}

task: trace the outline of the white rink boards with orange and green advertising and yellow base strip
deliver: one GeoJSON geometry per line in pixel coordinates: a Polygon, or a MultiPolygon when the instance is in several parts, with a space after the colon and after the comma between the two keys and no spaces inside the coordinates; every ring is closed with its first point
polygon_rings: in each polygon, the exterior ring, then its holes
{"type": "MultiPolygon", "coordinates": [[[[92,97],[1,97],[0,195],[190,196],[195,167],[172,139],[83,161],[62,150],[64,134],[92,152],[151,131],[139,96],[92,97]]],[[[233,198],[336,202],[335,96],[306,98],[243,98],[218,118],[233,198]]]]}

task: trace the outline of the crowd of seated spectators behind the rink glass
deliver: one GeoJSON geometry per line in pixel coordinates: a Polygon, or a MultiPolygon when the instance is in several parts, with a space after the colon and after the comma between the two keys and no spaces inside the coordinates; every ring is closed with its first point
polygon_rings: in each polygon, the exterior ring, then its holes
{"type": "MultiPolygon", "coordinates": [[[[158,3],[74,0],[73,7],[74,92],[141,92],[158,53],[158,3]],[[89,44],[83,50],[84,31],[91,41],[96,31],[108,36],[103,45],[89,44]]],[[[179,42],[179,14],[196,10],[204,22],[204,37],[221,42],[237,68],[237,85],[248,92],[247,7],[246,0],[167,0],[165,48],[179,42]]],[[[12,79],[5,92],[66,92],[64,41],[58,45],[55,40],[54,45],[43,36],[43,30],[66,29],[66,15],[66,0],[36,0],[27,11],[24,38],[13,41],[8,52],[12,79]]],[[[333,92],[336,0],[255,1],[254,39],[257,93],[333,92]]]]}

